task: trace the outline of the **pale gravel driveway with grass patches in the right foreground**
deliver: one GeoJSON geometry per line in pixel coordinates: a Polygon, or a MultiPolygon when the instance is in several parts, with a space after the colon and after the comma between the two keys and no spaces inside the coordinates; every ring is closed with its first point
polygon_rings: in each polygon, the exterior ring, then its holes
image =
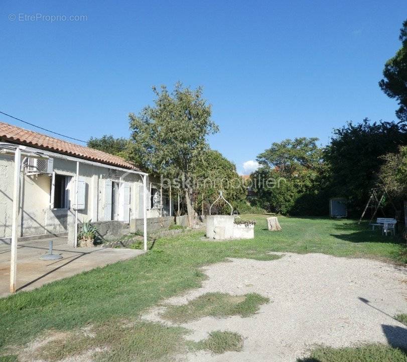
{"type": "MultiPolygon", "coordinates": [[[[189,361],[295,361],[315,344],[333,347],[390,343],[407,347],[407,328],[394,320],[407,313],[407,269],[380,261],[324,254],[284,253],[279,260],[231,259],[203,268],[208,280],[168,300],[184,304],[201,294],[256,292],[270,299],[253,317],[205,317],[184,327],[189,339],[213,330],[244,338],[241,352],[189,353],[189,361]]],[[[160,309],[146,318],[160,320],[160,309]]],[[[168,322],[166,322],[168,323],[168,322]]]]}

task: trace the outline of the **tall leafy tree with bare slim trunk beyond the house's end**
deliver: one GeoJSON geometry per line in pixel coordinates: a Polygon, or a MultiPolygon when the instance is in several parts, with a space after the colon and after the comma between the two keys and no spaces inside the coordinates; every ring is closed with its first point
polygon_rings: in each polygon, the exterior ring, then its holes
{"type": "Polygon", "coordinates": [[[140,114],[129,114],[131,146],[129,158],[153,173],[173,179],[185,194],[188,221],[194,223],[193,172],[201,155],[209,149],[206,137],[218,131],[211,120],[211,106],[202,98],[202,87],[184,88],[178,82],[170,93],[165,85],[157,99],[140,114]]]}

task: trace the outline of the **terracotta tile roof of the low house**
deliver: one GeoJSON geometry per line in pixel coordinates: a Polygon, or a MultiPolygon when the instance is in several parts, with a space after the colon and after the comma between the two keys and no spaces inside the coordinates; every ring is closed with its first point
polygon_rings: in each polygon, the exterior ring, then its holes
{"type": "Polygon", "coordinates": [[[0,139],[43,150],[140,171],[124,158],[0,122],[0,139]]]}

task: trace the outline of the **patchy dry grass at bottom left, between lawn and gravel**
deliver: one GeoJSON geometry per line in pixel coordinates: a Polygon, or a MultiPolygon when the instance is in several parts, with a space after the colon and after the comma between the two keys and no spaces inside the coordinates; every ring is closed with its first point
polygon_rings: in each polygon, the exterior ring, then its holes
{"type": "Polygon", "coordinates": [[[164,360],[185,350],[186,330],[159,323],[116,321],[52,339],[33,352],[49,362],[90,351],[96,362],[164,360]]]}

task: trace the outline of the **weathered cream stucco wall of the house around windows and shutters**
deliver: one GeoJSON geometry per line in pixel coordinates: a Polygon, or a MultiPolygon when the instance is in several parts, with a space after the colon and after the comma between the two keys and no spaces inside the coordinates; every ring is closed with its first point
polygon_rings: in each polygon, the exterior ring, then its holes
{"type": "MultiPolygon", "coordinates": [[[[57,174],[74,177],[76,162],[54,158],[54,171],[57,174]]],[[[11,237],[11,210],[13,204],[13,155],[0,155],[0,239],[11,237]]],[[[78,220],[104,221],[104,183],[105,180],[119,182],[122,171],[106,167],[98,167],[86,163],[79,163],[79,177],[86,184],[85,208],[78,211],[78,220]]],[[[128,173],[122,179],[130,188],[130,219],[141,218],[139,210],[139,187],[142,176],[128,173]]],[[[72,196],[74,186],[72,183],[72,196]]],[[[52,209],[50,202],[51,175],[20,174],[20,208],[19,208],[19,236],[32,236],[47,233],[58,233],[67,230],[67,218],[72,217],[74,211],[70,209],[52,209]]]]}

